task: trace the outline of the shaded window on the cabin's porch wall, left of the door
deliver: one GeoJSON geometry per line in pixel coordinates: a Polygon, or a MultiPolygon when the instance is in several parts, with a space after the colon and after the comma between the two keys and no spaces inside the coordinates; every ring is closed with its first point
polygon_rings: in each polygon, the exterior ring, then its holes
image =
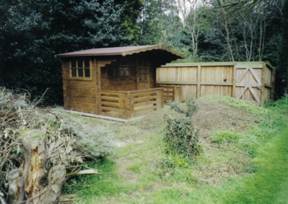
{"type": "Polygon", "coordinates": [[[107,76],[129,76],[128,61],[121,59],[112,62],[110,66],[107,66],[107,76]]]}

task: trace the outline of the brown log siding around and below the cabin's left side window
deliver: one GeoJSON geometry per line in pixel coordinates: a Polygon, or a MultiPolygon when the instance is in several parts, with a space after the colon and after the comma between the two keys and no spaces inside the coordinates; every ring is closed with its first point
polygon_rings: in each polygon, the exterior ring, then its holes
{"type": "Polygon", "coordinates": [[[69,77],[69,61],[62,64],[64,109],[80,112],[96,113],[96,75],[95,64],[92,60],[91,78],[87,80],[69,77]]]}

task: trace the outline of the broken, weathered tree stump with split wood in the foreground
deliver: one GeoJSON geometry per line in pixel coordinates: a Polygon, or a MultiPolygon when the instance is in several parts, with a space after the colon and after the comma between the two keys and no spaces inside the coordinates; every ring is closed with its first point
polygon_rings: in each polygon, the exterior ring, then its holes
{"type": "Polygon", "coordinates": [[[12,170],[8,174],[10,203],[57,203],[65,178],[64,166],[53,167],[47,179],[45,162],[48,150],[45,132],[40,130],[27,131],[22,136],[23,163],[21,168],[12,170]]]}

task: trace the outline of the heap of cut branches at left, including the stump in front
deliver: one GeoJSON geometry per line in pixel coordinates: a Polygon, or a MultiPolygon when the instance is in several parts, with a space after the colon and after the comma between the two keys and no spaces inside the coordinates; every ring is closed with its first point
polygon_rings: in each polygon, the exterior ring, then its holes
{"type": "Polygon", "coordinates": [[[79,131],[64,111],[36,105],[28,93],[0,87],[1,202],[57,203],[67,176],[96,173],[85,161],[112,152],[107,133],[79,131]]]}

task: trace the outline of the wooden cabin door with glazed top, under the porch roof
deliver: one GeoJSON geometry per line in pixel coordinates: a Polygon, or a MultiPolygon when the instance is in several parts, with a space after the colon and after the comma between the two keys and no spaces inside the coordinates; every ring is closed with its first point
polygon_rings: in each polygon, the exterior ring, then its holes
{"type": "Polygon", "coordinates": [[[149,89],[150,64],[145,59],[137,60],[137,90],[149,89]]]}

